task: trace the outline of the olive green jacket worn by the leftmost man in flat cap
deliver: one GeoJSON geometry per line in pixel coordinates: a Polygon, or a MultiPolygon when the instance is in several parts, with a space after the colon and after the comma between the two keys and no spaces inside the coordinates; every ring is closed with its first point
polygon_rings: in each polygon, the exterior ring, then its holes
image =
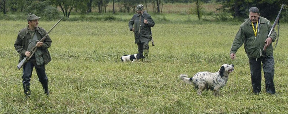
{"type": "MultiPolygon", "coordinates": [[[[43,36],[47,34],[47,32],[43,28],[37,27],[34,34],[37,35],[38,40],[40,40],[43,36]]],[[[19,31],[17,39],[14,43],[14,47],[16,51],[20,54],[19,63],[25,58],[25,52],[30,51],[30,50],[27,50],[29,39],[31,38],[30,38],[28,27],[25,27],[19,31]]],[[[51,43],[52,43],[52,40],[48,35],[46,39],[43,41],[43,46],[37,48],[37,50],[39,49],[42,51],[45,65],[47,65],[51,61],[51,56],[48,51],[48,48],[51,46],[51,43]]]]}

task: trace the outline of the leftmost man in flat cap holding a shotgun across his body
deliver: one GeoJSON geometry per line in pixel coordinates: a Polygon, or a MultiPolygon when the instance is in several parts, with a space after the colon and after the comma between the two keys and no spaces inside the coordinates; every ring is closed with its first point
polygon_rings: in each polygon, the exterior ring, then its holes
{"type": "Polygon", "coordinates": [[[47,34],[44,28],[38,27],[38,19],[40,17],[29,13],[27,17],[28,26],[19,31],[17,39],[14,43],[16,51],[20,54],[19,63],[27,56],[29,57],[32,48],[37,46],[37,50],[33,56],[23,65],[22,83],[24,94],[30,96],[30,78],[32,76],[33,67],[35,67],[39,82],[41,82],[44,93],[49,95],[48,77],[45,72],[45,65],[51,61],[48,48],[51,46],[52,40],[49,36],[43,42],[39,40],[47,34]]]}

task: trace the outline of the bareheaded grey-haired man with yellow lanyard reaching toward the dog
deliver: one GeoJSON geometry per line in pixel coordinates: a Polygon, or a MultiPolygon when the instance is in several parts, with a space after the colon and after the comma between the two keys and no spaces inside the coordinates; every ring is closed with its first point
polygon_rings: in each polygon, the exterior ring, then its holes
{"type": "Polygon", "coordinates": [[[276,32],[268,36],[272,28],[270,21],[260,16],[257,7],[249,9],[249,18],[245,20],[237,32],[231,46],[230,57],[235,59],[237,50],[243,45],[249,58],[251,82],[253,92],[261,92],[261,63],[265,78],[266,93],[274,94],[274,57],[272,42],[276,39],[276,32]],[[267,46],[263,51],[264,45],[267,46]]]}

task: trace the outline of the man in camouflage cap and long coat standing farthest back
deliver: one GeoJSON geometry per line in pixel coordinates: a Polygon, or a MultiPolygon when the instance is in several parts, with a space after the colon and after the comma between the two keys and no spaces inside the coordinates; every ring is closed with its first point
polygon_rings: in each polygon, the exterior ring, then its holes
{"type": "Polygon", "coordinates": [[[136,6],[137,13],[133,15],[128,23],[130,31],[134,32],[135,44],[138,45],[137,59],[148,58],[148,43],[151,41],[151,27],[155,24],[151,16],[143,12],[143,7],[142,4],[136,6]],[[145,57],[143,56],[143,52],[145,57]]]}

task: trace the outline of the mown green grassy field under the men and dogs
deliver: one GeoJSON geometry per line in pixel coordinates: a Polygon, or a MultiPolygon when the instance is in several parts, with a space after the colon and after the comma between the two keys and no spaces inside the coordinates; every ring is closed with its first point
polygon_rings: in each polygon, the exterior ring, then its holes
{"type": "MultiPolygon", "coordinates": [[[[13,44],[27,22],[0,20],[0,113],[288,113],[288,24],[281,24],[274,52],[276,94],[265,93],[262,79],[263,93],[254,95],[243,47],[229,58],[240,22],[155,22],[150,60],[136,63],[119,59],[137,53],[128,22],[60,22],[50,33],[51,94],[42,92],[34,70],[25,98],[13,44]],[[217,72],[224,63],[235,70],[218,97],[212,91],[198,96],[179,80],[180,74],[217,72]]],[[[40,20],[39,26],[48,31],[55,23],[40,20]]]]}

